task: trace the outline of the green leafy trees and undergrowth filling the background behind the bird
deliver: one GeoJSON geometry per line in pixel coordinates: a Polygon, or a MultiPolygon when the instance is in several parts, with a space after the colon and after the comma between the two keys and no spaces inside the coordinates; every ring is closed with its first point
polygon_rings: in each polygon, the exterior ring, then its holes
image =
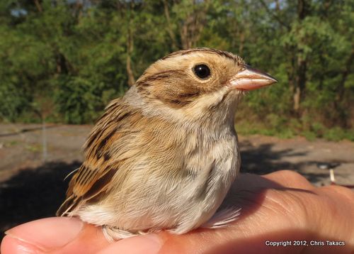
{"type": "Polygon", "coordinates": [[[0,120],[91,123],[129,71],[210,47],[278,79],[239,106],[241,133],[353,140],[354,0],[304,2],[1,1],[0,120]]]}

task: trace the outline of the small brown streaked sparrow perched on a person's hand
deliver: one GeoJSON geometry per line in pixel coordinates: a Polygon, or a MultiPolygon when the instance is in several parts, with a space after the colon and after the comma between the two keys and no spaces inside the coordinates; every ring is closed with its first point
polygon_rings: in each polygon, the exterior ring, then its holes
{"type": "Polygon", "coordinates": [[[275,82],[212,48],[157,60],[96,122],[57,216],[101,226],[108,241],[228,226],[239,208],[218,208],[241,163],[236,106],[275,82]]]}

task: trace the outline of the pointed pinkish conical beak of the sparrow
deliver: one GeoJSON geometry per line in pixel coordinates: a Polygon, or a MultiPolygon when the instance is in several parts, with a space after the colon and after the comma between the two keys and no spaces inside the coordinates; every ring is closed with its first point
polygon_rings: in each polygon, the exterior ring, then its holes
{"type": "Polygon", "coordinates": [[[244,70],[241,70],[241,72],[232,77],[230,83],[234,89],[249,91],[268,86],[275,82],[278,82],[277,79],[265,72],[244,65],[244,70]]]}

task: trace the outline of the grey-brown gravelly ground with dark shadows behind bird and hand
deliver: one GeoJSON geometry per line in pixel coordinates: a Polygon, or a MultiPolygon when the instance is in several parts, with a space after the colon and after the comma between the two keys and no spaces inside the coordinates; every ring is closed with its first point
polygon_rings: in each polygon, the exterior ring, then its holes
{"type": "MultiPolygon", "coordinates": [[[[47,126],[43,152],[42,126],[0,124],[0,231],[25,221],[53,216],[64,199],[64,177],[79,167],[81,146],[91,126],[47,126]]],[[[295,170],[316,184],[330,184],[329,171],[319,163],[340,164],[340,184],[354,184],[354,143],[304,138],[282,140],[241,136],[242,172],[265,174],[295,170]]],[[[2,236],[2,235],[1,235],[2,236]]],[[[0,238],[1,238],[0,236],[0,238]]]]}

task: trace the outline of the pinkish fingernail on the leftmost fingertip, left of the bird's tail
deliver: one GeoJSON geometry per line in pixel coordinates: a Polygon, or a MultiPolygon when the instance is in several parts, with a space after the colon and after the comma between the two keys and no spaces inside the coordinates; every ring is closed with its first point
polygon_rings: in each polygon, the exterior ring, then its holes
{"type": "Polygon", "coordinates": [[[76,218],[53,217],[30,221],[5,233],[18,241],[49,251],[73,241],[83,226],[84,223],[76,218]]]}

